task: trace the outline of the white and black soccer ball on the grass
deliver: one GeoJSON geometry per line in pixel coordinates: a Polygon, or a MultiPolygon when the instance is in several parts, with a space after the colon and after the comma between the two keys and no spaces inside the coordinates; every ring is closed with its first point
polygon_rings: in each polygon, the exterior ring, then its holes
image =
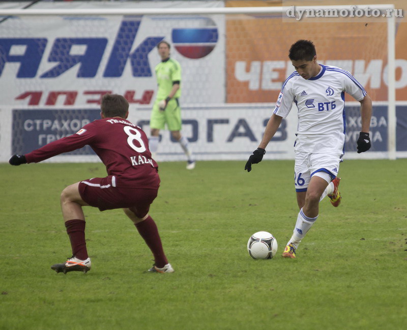
{"type": "Polygon", "coordinates": [[[277,248],[277,240],[268,232],[257,232],[247,242],[247,251],[253,259],[271,259],[277,248]]]}

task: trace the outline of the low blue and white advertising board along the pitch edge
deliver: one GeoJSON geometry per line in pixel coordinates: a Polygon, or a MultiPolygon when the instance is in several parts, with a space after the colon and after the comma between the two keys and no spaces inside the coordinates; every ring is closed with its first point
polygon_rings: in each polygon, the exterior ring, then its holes
{"type": "MultiPolygon", "coordinates": [[[[271,104],[212,105],[205,108],[183,108],[183,134],[198,160],[245,160],[257,148],[274,107],[271,104]]],[[[131,109],[129,120],[149,132],[150,108],[131,109]]],[[[344,159],[372,159],[387,157],[387,108],[374,106],[370,136],[372,148],[366,153],[356,153],[356,141],[360,131],[360,111],[357,104],[346,106],[346,136],[344,159]]],[[[27,153],[43,145],[76,133],[83,125],[100,118],[100,110],[94,109],[11,109],[12,143],[7,154],[27,153]]],[[[397,141],[405,141],[407,105],[398,106],[399,126],[397,141]],[[403,126],[404,125],[404,126],[403,126]]],[[[295,132],[297,129],[295,107],[283,120],[277,134],[267,147],[265,159],[293,159],[295,132]]],[[[178,142],[171,140],[168,131],[162,131],[157,161],[184,160],[185,155],[178,142]]],[[[407,156],[405,143],[397,143],[397,154],[407,156]]],[[[7,158],[3,153],[4,159],[7,158]]],[[[5,159],[7,160],[7,159],[5,159]]],[[[49,161],[98,161],[89,146],[49,161]]]]}

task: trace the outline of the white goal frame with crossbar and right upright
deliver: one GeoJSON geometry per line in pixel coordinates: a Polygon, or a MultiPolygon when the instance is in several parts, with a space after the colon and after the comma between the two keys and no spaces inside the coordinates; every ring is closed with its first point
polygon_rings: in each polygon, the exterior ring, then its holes
{"type": "MultiPolygon", "coordinates": [[[[394,5],[363,5],[381,11],[394,10],[394,5]]],[[[352,6],[298,6],[297,10],[351,10],[352,6]]],[[[362,7],[362,5],[360,6],[362,7]]],[[[212,8],[81,8],[81,9],[1,9],[3,18],[13,16],[110,16],[110,15],[267,15],[285,13],[292,7],[212,7],[212,8]]],[[[396,100],[395,100],[395,17],[389,15],[387,20],[387,158],[396,159],[396,100]]],[[[283,24],[283,23],[282,23],[283,24]]],[[[301,24],[301,23],[299,23],[301,24]]],[[[293,36],[295,37],[295,36],[293,36]]]]}

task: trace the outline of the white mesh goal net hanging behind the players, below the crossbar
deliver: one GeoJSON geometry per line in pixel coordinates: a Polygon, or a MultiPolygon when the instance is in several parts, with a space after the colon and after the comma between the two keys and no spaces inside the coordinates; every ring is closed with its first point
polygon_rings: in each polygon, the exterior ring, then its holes
{"type": "MultiPolygon", "coordinates": [[[[129,119],[149,135],[161,40],[171,44],[171,57],[182,67],[183,134],[196,158],[246,159],[261,140],[282,83],[294,71],[287,54],[299,39],[313,41],[319,63],[345,69],[365,86],[374,105],[369,156],[395,158],[394,16],[298,21],[287,16],[287,7],[206,4],[0,7],[0,111],[5,118],[0,160],[74,134],[99,117],[105,93],[125,95],[129,119]]],[[[296,116],[294,106],[267,159],[294,157],[296,116]]],[[[359,103],[352,98],[346,98],[346,124],[346,156],[352,158],[360,131],[359,103]]],[[[183,160],[169,132],[161,135],[158,161],[183,160]]],[[[97,157],[87,148],[55,160],[97,157]]]]}

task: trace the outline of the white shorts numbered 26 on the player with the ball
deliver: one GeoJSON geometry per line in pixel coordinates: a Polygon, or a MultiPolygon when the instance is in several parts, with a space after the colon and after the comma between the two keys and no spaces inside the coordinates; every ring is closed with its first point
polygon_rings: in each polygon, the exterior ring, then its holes
{"type": "Polygon", "coordinates": [[[309,180],[317,172],[328,173],[332,180],[339,171],[342,154],[309,153],[296,151],[294,185],[297,192],[307,191],[309,180]]]}

